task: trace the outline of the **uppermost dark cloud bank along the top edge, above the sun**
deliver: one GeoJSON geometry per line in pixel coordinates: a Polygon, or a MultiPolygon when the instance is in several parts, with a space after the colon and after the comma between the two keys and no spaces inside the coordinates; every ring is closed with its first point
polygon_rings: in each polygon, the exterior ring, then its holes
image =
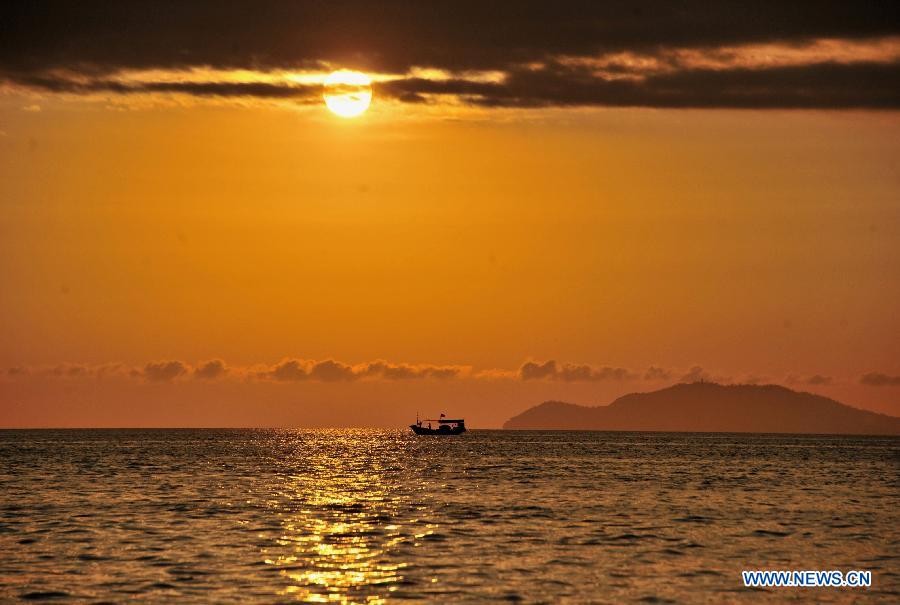
{"type": "Polygon", "coordinates": [[[497,69],[557,55],[895,33],[890,2],[10,0],[0,65],[497,69]]]}

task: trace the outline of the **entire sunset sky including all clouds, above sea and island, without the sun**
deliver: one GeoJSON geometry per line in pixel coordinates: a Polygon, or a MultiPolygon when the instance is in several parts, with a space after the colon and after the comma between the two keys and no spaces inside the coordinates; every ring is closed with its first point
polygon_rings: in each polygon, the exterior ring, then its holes
{"type": "Polygon", "coordinates": [[[9,2],[0,30],[0,426],[488,428],[698,379],[900,416],[888,3],[9,2]]]}

